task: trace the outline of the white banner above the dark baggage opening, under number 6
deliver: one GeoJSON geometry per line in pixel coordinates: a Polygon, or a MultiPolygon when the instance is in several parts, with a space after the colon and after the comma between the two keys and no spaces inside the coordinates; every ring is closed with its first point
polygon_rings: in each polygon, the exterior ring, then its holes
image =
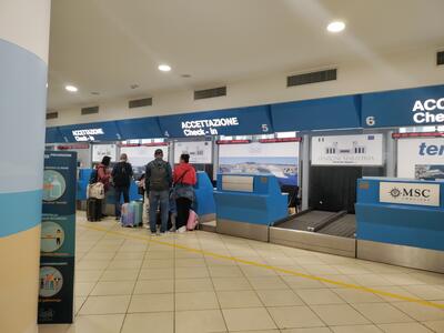
{"type": "Polygon", "coordinates": [[[382,165],[382,134],[312,138],[312,165],[382,165]]]}

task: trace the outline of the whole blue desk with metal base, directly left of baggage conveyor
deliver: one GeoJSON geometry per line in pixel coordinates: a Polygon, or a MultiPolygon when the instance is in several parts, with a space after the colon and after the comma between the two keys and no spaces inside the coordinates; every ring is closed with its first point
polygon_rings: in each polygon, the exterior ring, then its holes
{"type": "Polygon", "coordinates": [[[219,174],[216,232],[269,241],[269,226],[287,215],[287,194],[271,174],[219,174]]]}

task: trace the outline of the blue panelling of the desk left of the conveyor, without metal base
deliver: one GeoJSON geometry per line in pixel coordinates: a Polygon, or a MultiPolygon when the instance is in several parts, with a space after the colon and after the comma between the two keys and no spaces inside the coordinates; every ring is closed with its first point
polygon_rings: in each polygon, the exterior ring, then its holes
{"type": "Polygon", "coordinates": [[[218,220],[273,225],[287,215],[287,194],[281,193],[274,175],[241,174],[254,178],[253,192],[223,190],[223,176],[218,175],[218,190],[214,192],[218,220]]]}

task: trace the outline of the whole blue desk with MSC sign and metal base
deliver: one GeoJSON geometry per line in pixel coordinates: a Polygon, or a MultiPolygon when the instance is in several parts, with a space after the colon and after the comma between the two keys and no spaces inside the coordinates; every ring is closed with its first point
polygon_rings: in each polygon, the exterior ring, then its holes
{"type": "Polygon", "coordinates": [[[444,273],[444,182],[357,181],[357,258],[444,273]]]}

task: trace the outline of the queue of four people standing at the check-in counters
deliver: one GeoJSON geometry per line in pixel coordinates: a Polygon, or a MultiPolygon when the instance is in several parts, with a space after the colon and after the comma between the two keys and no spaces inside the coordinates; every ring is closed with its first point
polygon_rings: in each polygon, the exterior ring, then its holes
{"type": "MultiPolygon", "coordinates": [[[[115,191],[115,220],[121,218],[121,199],[130,201],[130,185],[133,179],[132,165],[128,155],[122,153],[120,161],[110,171],[111,158],[103,157],[102,162],[95,167],[97,181],[103,184],[107,193],[112,184],[115,191]]],[[[181,154],[180,163],[172,171],[169,162],[163,160],[163,151],[157,149],[154,160],[145,167],[145,173],[139,179],[139,193],[148,199],[147,215],[149,229],[152,234],[162,234],[168,231],[183,232],[186,230],[190,209],[194,202],[194,185],[196,174],[190,164],[190,155],[181,154]],[[160,220],[160,230],[158,230],[160,220]],[[171,225],[169,226],[169,222],[171,225]]],[[[102,201],[103,203],[105,200],[102,201]]],[[[102,216],[107,216],[102,204],[102,216]]]]}

